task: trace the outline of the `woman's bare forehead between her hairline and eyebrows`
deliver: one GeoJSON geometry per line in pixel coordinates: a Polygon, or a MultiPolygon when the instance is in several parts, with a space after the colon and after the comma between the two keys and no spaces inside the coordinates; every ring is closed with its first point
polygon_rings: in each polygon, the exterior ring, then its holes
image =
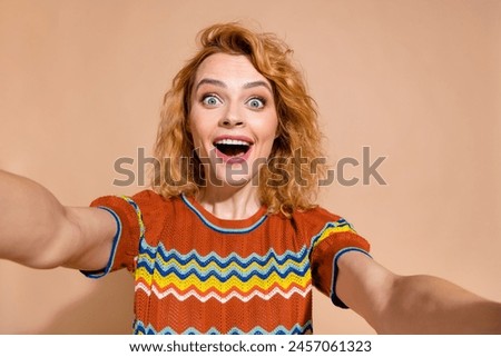
{"type": "Polygon", "coordinates": [[[269,85],[269,81],[243,54],[210,54],[198,67],[195,82],[205,78],[218,79],[229,83],[262,80],[269,85]]]}

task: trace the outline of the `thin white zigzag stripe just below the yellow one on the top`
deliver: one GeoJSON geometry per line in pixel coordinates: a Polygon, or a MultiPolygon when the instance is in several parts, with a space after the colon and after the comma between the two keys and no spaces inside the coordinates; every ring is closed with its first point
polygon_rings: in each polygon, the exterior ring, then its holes
{"type": "Polygon", "coordinates": [[[249,301],[252,298],[254,298],[254,297],[259,297],[261,299],[263,299],[263,300],[269,300],[272,297],[274,297],[275,295],[281,295],[281,296],[283,296],[284,298],[286,298],[286,299],[288,299],[291,296],[293,296],[294,294],[299,294],[302,297],[305,297],[306,295],[308,295],[310,294],[310,291],[312,290],[312,285],[311,284],[308,284],[307,286],[306,286],[306,288],[305,289],[299,289],[299,288],[297,288],[297,287],[294,287],[294,288],[292,288],[291,290],[288,290],[287,292],[285,292],[284,290],[282,290],[281,288],[278,288],[278,287],[276,287],[276,288],[274,288],[273,290],[271,290],[269,292],[267,292],[267,294],[263,294],[263,292],[261,292],[261,291],[258,291],[258,290],[254,290],[252,294],[249,294],[249,295],[246,295],[246,296],[243,296],[243,295],[240,295],[240,294],[238,294],[237,291],[232,291],[229,295],[227,295],[227,296],[220,296],[219,294],[217,294],[217,292],[215,292],[215,291],[212,291],[210,294],[208,294],[208,295],[205,295],[205,296],[200,296],[197,291],[195,291],[195,290],[188,290],[186,294],[179,294],[179,292],[177,292],[176,291],[176,289],[174,289],[174,288],[169,288],[169,289],[167,289],[167,290],[165,290],[164,292],[160,292],[160,291],[158,291],[158,289],[157,289],[157,287],[156,286],[154,286],[151,289],[149,289],[145,284],[143,284],[143,282],[139,282],[139,284],[137,284],[136,285],[136,288],[135,288],[135,290],[137,291],[137,290],[143,290],[143,291],[145,291],[148,296],[150,296],[151,295],[151,292],[153,294],[155,294],[155,296],[158,298],[158,299],[163,299],[163,298],[165,298],[167,295],[174,295],[178,300],[180,300],[180,301],[184,301],[184,300],[187,300],[188,298],[190,298],[190,297],[195,297],[196,299],[198,299],[199,301],[202,301],[202,303],[206,303],[207,300],[209,300],[209,299],[217,299],[217,300],[219,300],[220,303],[227,303],[227,301],[229,301],[230,299],[233,299],[233,298],[236,298],[236,299],[239,299],[239,300],[242,300],[242,301],[244,301],[244,303],[247,303],[247,301],[249,301]]]}

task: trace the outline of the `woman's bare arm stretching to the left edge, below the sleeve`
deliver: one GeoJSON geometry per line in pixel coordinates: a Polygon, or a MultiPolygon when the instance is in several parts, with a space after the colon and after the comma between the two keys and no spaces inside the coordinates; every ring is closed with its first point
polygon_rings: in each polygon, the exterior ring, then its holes
{"type": "Polygon", "coordinates": [[[0,259],[32,268],[106,267],[115,218],[90,207],[65,207],[41,185],[0,170],[0,259]]]}

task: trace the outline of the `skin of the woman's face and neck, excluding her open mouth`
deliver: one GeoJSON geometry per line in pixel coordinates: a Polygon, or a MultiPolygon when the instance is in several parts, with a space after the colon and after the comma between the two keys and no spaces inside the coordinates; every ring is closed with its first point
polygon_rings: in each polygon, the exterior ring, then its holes
{"type": "Polygon", "coordinates": [[[278,126],[272,85],[245,56],[216,53],[198,68],[191,98],[194,146],[215,178],[198,200],[220,218],[246,218],[261,207],[252,179],[268,158],[278,126]],[[233,163],[215,150],[223,138],[244,140],[249,150],[233,163]]]}

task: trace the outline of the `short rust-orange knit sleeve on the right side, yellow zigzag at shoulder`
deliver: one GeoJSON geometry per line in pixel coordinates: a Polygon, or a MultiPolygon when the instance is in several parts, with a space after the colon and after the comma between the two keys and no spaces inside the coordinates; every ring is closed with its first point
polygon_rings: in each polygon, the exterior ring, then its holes
{"type": "Polygon", "coordinates": [[[334,305],[347,308],[336,295],[337,259],[353,250],[369,255],[370,244],[345,219],[336,218],[325,224],[312,239],[312,279],[334,305]]]}

